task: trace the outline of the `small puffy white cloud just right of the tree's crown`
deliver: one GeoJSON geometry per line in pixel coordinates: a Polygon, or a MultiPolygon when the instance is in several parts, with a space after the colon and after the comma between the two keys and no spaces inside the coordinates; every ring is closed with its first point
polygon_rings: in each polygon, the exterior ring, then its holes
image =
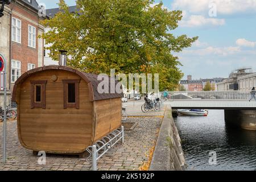
{"type": "Polygon", "coordinates": [[[205,18],[202,15],[191,15],[180,22],[181,27],[222,26],[224,24],[225,19],[205,18]]]}

